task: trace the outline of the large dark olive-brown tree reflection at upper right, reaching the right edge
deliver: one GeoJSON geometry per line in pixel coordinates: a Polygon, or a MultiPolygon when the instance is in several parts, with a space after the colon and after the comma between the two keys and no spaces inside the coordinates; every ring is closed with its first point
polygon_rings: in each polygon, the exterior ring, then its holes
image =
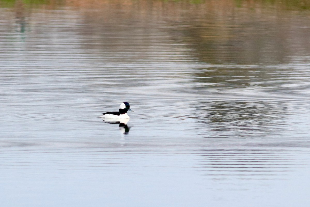
{"type": "Polygon", "coordinates": [[[207,63],[286,63],[291,56],[310,55],[308,18],[278,7],[215,8],[183,24],[178,33],[207,63]]]}

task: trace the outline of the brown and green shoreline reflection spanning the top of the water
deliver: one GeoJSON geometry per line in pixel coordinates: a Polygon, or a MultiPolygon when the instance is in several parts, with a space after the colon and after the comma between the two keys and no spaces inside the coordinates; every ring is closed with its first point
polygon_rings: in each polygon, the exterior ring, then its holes
{"type": "MultiPolygon", "coordinates": [[[[16,1],[16,18],[24,31],[22,4],[16,1]]],[[[87,25],[82,34],[98,36],[102,22],[110,26],[104,25],[105,30],[125,26],[120,31],[124,38],[133,31],[162,29],[170,40],[187,44],[194,51],[191,55],[206,63],[287,63],[296,56],[310,56],[309,0],[72,0],[48,1],[42,7],[57,6],[81,12],[87,25]]]]}

